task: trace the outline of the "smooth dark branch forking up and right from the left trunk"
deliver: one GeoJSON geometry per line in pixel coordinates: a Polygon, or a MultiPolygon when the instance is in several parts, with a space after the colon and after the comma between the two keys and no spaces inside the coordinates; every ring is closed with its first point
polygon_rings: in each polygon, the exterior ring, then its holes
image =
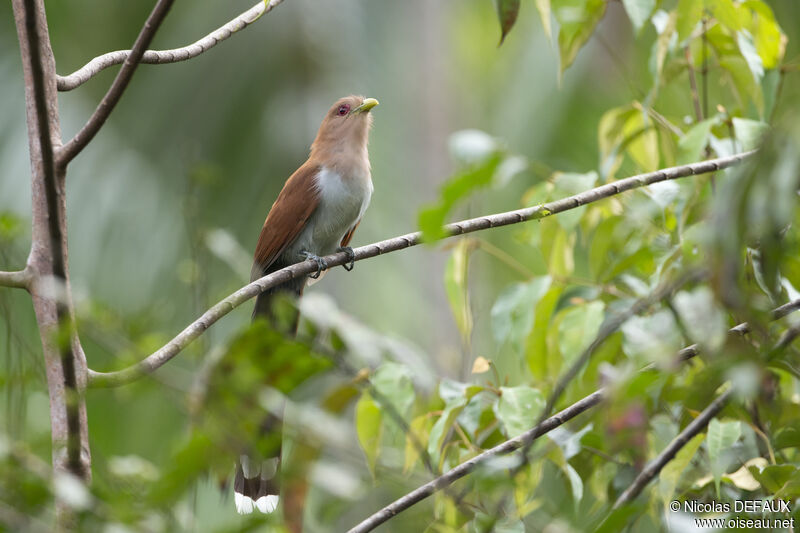
{"type": "Polygon", "coordinates": [[[86,148],[86,145],[89,144],[94,136],[97,135],[97,132],[100,131],[100,128],[103,127],[108,116],[122,97],[122,93],[128,87],[128,83],[130,83],[133,73],[136,71],[136,67],[139,66],[142,55],[144,55],[147,47],[150,46],[153,36],[155,36],[158,27],[164,21],[164,17],[167,16],[167,12],[169,8],[172,7],[173,2],[174,0],[158,0],[150,16],[147,17],[142,30],[139,32],[136,42],[133,43],[133,49],[130,54],[128,54],[128,57],[125,58],[125,63],[122,65],[122,68],[119,69],[117,77],[114,78],[114,82],[100,101],[97,109],[94,110],[94,113],[89,117],[89,120],[83,128],[75,134],[75,137],[58,151],[57,159],[60,167],[66,166],[81,152],[81,150],[86,148]]]}

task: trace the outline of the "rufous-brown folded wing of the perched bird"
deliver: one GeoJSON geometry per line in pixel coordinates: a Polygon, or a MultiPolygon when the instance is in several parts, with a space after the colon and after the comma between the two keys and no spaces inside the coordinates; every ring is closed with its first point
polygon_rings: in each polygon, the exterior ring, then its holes
{"type": "Polygon", "coordinates": [[[261,272],[265,272],[280,257],[319,205],[319,190],[315,180],[318,172],[318,165],[306,163],[286,180],[261,228],[251,281],[261,277],[261,272]]]}

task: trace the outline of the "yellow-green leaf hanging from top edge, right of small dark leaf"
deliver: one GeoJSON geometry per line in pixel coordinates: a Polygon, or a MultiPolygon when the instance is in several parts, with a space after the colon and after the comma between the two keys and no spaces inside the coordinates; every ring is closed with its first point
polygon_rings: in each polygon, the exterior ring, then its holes
{"type": "Polygon", "coordinates": [[[605,0],[551,0],[558,30],[561,52],[559,76],[575,61],[575,56],[589,40],[595,26],[603,18],[605,0]]]}

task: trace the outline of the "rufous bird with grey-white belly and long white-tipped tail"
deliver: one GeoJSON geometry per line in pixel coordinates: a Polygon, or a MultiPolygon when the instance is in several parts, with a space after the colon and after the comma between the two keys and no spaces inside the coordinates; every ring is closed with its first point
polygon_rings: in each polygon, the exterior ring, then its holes
{"type": "MultiPolygon", "coordinates": [[[[290,177],[267,214],[256,244],[250,281],[299,262],[314,261],[317,270],[268,289],[256,298],[253,319],[275,320],[276,297],[300,297],[308,278],[319,278],[327,269],[323,256],[344,251],[343,265],[352,270],[354,254],[348,246],[372,198],[372,174],[367,152],[375,98],[350,95],[334,103],[319,127],[308,160],[290,177]]],[[[297,317],[292,333],[297,330],[297,317]]],[[[278,417],[265,422],[271,431],[280,427],[278,417]]],[[[236,510],[271,513],[279,503],[280,447],[263,461],[241,455],[234,477],[236,510]]]]}

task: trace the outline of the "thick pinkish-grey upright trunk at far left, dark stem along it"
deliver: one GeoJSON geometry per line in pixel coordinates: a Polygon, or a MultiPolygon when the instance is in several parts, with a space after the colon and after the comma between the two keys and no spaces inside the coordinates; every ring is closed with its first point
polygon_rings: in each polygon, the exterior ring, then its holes
{"type": "Polygon", "coordinates": [[[13,0],[20,41],[31,159],[32,244],[28,268],[34,312],[45,357],[53,467],[88,481],[90,454],[83,391],[86,360],[74,332],[67,275],[64,170],[60,146],[55,60],[42,0],[13,0]]]}

